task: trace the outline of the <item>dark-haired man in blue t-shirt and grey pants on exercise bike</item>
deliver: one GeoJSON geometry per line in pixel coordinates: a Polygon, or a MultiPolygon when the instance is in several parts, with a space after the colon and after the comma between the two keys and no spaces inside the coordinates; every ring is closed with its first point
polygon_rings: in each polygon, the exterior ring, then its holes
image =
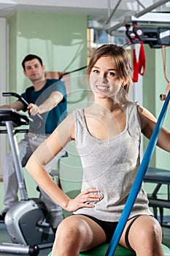
{"type": "MultiPolygon", "coordinates": [[[[23,74],[31,81],[31,86],[21,94],[21,97],[28,102],[20,99],[12,102],[9,105],[0,106],[0,108],[12,108],[15,110],[27,111],[34,122],[30,125],[30,130],[20,140],[19,151],[20,161],[22,166],[26,165],[32,152],[49,136],[55,127],[66,118],[66,88],[61,80],[46,79],[45,65],[39,56],[29,54],[23,59],[23,74]],[[39,127],[39,118],[42,117],[43,124],[39,127]],[[32,131],[32,132],[31,132],[32,131]]],[[[55,157],[55,161],[66,154],[63,151],[55,157]]],[[[50,162],[46,169],[50,173],[54,162],[50,162]]],[[[7,154],[4,159],[4,210],[0,213],[0,221],[4,222],[4,217],[11,206],[18,202],[18,181],[15,175],[15,168],[12,159],[12,153],[7,154]]],[[[54,203],[50,197],[39,188],[41,197],[47,206],[48,211],[52,214],[51,222],[53,228],[58,227],[58,224],[63,219],[63,213],[60,206],[54,203]]]]}

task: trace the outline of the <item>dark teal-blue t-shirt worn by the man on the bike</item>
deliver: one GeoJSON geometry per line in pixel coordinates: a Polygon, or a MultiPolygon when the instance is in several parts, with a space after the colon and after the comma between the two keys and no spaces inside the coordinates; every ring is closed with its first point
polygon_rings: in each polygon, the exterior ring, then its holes
{"type": "MultiPolygon", "coordinates": [[[[47,79],[47,82],[45,83],[45,86],[42,87],[39,91],[34,91],[34,86],[28,87],[26,89],[26,92],[21,94],[21,97],[26,100],[26,102],[34,103],[36,105],[41,105],[45,100],[50,97],[50,94],[53,91],[60,91],[61,94],[63,94],[63,100],[58,103],[58,105],[53,108],[53,110],[50,110],[46,113],[42,113],[40,116],[42,116],[44,120],[44,124],[42,127],[37,129],[39,127],[39,120],[37,116],[31,116],[31,118],[34,120],[34,123],[30,123],[30,129],[34,130],[35,133],[42,133],[42,134],[50,134],[53,132],[53,130],[58,127],[58,124],[63,121],[64,118],[67,116],[66,111],[66,88],[64,83],[61,80],[58,79],[47,79]]],[[[27,105],[24,104],[24,111],[27,110],[27,105]]]]}

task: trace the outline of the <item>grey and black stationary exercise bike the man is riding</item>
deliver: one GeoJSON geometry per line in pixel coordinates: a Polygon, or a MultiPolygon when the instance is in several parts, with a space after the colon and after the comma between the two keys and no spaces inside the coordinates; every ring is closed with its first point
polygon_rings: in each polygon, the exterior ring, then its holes
{"type": "MultiPolygon", "coordinates": [[[[15,93],[3,93],[2,95],[15,96],[27,103],[25,99],[15,93]]],[[[40,125],[42,125],[41,116],[39,116],[39,119],[40,125]]],[[[28,198],[19,158],[16,134],[18,132],[28,132],[28,129],[16,129],[16,127],[28,125],[31,121],[31,118],[16,110],[0,110],[0,126],[7,128],[0,130],[0,133],[8,134],[20,191],[20,202],[16,203],[7,211],[4,219],[7,233],[13,243],[0,244],[0,252],[4,253],[38,255],[40,248],[53,246],[55,238],[53,227],[47,221],[50,218],[50,213],[47,211],[45,203],[40,198],[28,198]]]]}

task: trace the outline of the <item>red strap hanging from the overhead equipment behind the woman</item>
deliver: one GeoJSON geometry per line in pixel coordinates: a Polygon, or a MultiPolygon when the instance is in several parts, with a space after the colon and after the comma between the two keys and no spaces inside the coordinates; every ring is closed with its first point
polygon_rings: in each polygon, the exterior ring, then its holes
{"type": "Polygon", "coordinates": [[[136,48],[134,45],[133,50],[133,64],[134,64],[134,76],[133,76],[133,82],[137,82],[140,75],[144,75],[146,70],[146,58],[144,53],[144,42],[141,41],[141,46],[139,50],[139,60],[136,59],[136,48]]]}

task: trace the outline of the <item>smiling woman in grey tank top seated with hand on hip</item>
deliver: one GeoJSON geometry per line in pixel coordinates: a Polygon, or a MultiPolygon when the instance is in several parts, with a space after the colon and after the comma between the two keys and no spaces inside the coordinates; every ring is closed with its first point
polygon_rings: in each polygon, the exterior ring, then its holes
{"type": "MultiPolygon", "coordinates": [[[[58,226],[53,256],[78,256],[111,241],[139,169],[142,133],[150,139],[157,121],[128,100],[132,72],[125,48],[101,45],[91,56],[87,74],[94,102],[67,116],[26,165],[39,186],[64,210],[73,212],[58,226]],[[82,189],[74,198],[44,168],[72,140],[83,168],[82,189]]],[[[170,132],[162,128],[157,145],[170,151],[170,132]]],[[[161,225],[152,217],[140,187],[119,245],[136,255],[163,256],[161,241],[161,225]]]]}

